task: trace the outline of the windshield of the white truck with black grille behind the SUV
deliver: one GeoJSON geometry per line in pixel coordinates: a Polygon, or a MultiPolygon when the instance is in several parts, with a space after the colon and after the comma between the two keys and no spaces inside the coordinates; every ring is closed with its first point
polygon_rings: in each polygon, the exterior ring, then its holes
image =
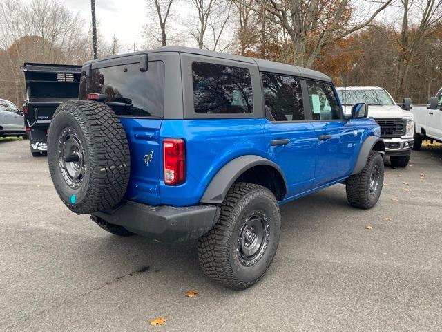
{"type": "Polygon", "coordinates": [[[394,105],[394,101],[383,89],[338,90],[340,102],[343,105],[353,105],[358,102],[372,105],[394,105]]]}

